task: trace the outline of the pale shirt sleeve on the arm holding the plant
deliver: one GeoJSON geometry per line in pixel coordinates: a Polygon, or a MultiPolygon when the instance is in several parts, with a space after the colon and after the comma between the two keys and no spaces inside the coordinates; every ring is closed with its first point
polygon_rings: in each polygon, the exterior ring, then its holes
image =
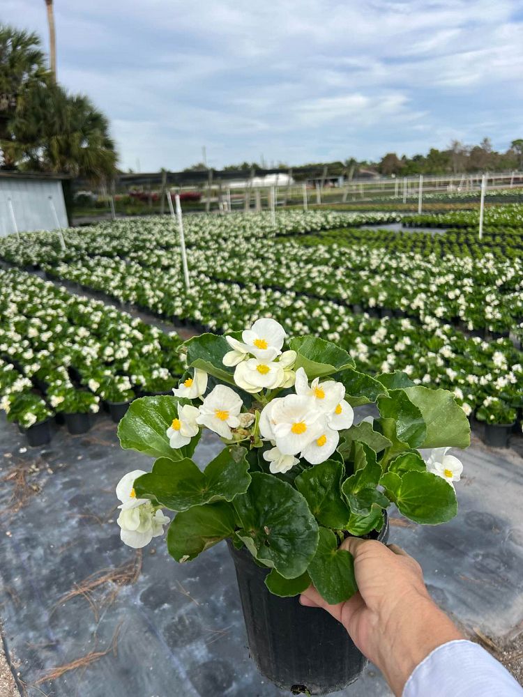
{"type": "Polygon", "coordinates": [[[402,697],[522,697],[501,663],[465,639],[438,646],[407,680],[402,697]]]}

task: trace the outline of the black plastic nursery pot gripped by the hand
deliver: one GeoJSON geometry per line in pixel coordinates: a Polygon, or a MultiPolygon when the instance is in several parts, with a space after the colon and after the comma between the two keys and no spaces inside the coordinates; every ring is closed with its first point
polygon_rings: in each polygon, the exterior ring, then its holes
{"type": "MultiPolygon", "coordinates": [[[[388,517],[377,536],[388,540],[388,517]]],[[[259,567],[245,547],[227,545],[236,567],[250,657],[258,671],[294,694],[326,695],[358,679],[367,659],[347,631],[320,608],[304,607],[298,596],[280,598],[264,581],[270,569],[259,567]]]]}

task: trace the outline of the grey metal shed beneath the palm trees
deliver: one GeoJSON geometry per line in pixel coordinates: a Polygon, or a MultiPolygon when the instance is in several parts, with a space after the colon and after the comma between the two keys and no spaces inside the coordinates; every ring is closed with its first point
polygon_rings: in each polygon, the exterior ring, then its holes
{"type": "Polygon", "coordinates": [[[64,178],[0,170],[0,237],[14,233],[15,224],[19,232],[68,227],[61,182],[64,178]]]}

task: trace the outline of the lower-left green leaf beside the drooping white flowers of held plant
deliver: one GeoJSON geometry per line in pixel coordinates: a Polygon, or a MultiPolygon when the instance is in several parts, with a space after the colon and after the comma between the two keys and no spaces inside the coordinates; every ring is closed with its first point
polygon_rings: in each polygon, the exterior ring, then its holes
{"type": "Polygon", "coordinates": [[[167,549],[176,561],[190,561],[213,544],[234,535],[234,509],[218,501],[177,513],[167,531],[167,549]]]}

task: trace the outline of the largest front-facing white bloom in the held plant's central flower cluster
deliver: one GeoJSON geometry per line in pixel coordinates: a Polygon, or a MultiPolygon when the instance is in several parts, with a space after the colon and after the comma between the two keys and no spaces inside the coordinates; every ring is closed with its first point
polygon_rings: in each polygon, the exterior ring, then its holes
{"type": "Polygon", "coordinates": [[[296,455],[325,429],[325,415],[312,397],[287,395],[271,409],[276,446],[285,455],[296,455]]]}

